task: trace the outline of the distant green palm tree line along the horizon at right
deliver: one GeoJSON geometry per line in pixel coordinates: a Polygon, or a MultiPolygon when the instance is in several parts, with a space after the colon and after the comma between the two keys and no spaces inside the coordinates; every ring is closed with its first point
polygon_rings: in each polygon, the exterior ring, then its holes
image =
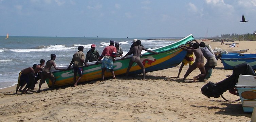
{"type": "Polygon", "coordinates": [[[246,34],[221,34],[221,36],[216,35],[212,38],[221,38],[221,39],[234,39],[236,41],[256,41],[256,30],[253,33],[246,33],[246,34]]]}

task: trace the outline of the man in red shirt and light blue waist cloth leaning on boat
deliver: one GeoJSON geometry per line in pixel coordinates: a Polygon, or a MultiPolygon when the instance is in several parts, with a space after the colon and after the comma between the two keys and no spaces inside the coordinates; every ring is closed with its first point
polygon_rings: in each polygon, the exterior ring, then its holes
{"type": "Polygon", "coordinates": [[[114,47],[115,42],[113,40],[109,41],[109,46],[105,47],[103,49],[102,54],[99,56],[98,61],[95,63],[95,65],[98,65],[100,60],[104,57],[101,65],[102,69],[102,80],[104,80],[104,74],[105,70],[110,70],[111,74],[113,75],[113,79],[115,79],[115,73],[113,70],[113,62],[115,61],[115,55],[116,55],[116,48],[114,47]]]}

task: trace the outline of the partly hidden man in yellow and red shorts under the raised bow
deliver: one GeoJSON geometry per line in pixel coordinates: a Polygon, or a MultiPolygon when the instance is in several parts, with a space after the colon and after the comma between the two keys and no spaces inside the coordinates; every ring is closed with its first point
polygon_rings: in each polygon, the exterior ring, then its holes
{"type": "MultiPolygon", "coordinates": [[[[189,46],[192,47],[193,45],[190,44],[189,46]]],[[[180,73],[181,73],[181,71],[182,71],[183,66],[188,64],[189,67],[190,67],[190,66],[193,64],[193,62],[194,62],[194,55],[193,55],[193,52],[187,51],[186,56],[184,57],[184,59],[183,59],[182,62],[181,62],[181,66],[180,66],[180,69],[179,69],[179,73],[178,73],[177,78],[180,78],[180,73]]]]}

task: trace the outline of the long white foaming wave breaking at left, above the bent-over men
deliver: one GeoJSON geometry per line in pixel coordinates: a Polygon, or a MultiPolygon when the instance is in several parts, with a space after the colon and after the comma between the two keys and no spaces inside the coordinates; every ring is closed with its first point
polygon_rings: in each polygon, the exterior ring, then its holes
{"type": "Polygon", "coordinates": [[[40,49],[9,49],[13,52],[39,52],[39,51],[56,51],[56,50],[69,50],[70,47],[65,47],[65,45],[50,45],[45,48],[40,49]]]}

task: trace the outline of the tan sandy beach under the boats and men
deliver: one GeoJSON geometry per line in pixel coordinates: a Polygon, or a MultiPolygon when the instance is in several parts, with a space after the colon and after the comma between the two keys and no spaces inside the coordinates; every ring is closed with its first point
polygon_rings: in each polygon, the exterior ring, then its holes
{"type": "MultiPolygon", "coordinates": [[[[200,40],[198,40],[201,42],[200,40]]],[[[256,42],[236,41],[234,48],[219,42],[204,41],[214,48],[229,50],[250,49],[256,53],[256,42]]],[[[206,62],[206,60],[205,60],[206,62]]],[[[200,73],[193,71],[180,82],[188,69],[174,68],[134,75],[125,79],[91,81],[78,87],[50,90],[46,83],[42,92],[14,95],[16,86],[0,89],[0,121],[5,122],[248,122],[252,113],[243,112],[241,102],[207,98],[201,87],[208,81],[219,82],[231,75],[221,60],[205,82],[193,82],[200,73]]],[[[18,75],[18,74],[17,74],[18,75]]],[[[35,90],[38,89],[38,84],[35,90]]]]}

